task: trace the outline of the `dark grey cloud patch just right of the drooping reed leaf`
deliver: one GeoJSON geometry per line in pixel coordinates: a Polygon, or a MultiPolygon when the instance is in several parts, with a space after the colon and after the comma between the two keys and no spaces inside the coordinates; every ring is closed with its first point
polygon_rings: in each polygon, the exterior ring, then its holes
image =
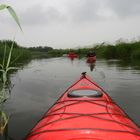
{"type": "Polygon", "coordinates": [[[54,7],[43,7],[34,5],[21,13],[22,23],[29,25],[49,24],[52,22],[63,21],[64,15],[54,7]]]}

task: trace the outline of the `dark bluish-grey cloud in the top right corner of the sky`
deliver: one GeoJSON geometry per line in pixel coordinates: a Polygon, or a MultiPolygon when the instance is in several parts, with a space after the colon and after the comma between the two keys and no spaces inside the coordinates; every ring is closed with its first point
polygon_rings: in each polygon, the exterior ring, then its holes
{"type": "Polygon", "coordinates": [[[140,14],[140,0],[108,0],[107,4],[122,18],[140,14]]]}

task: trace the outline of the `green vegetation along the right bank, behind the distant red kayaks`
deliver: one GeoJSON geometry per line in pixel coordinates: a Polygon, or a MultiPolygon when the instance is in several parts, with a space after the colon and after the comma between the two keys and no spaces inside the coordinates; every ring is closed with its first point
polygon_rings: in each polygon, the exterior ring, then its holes
{"type": "Polygon", "coordinates": [[[52,57],[59,57],[69,52],[75,52],[79,57],[85,57],[90,50],[96,52],[97,58],[132,60],[140,59],[140,41],[118,42],[116,45],[98,44],[94,47],[78,49],[54,49],[48,52],[52,57]]]}

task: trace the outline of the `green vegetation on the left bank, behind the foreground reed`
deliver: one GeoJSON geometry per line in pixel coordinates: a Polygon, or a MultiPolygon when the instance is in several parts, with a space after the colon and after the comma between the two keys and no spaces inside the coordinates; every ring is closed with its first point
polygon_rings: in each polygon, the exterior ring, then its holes
{"type": "Polygon", "coordinates": [[[32,59],[48,58],[48,51],[53,50],[51,47],[30,47],[25,48],[11,40],[0,40],[0,62],[4,57],[4,49],[6,45],[6,57],[10,52],[11,45],[13,44],[11,64],[19,66],[22,63],[27,63],[32,59]]]}

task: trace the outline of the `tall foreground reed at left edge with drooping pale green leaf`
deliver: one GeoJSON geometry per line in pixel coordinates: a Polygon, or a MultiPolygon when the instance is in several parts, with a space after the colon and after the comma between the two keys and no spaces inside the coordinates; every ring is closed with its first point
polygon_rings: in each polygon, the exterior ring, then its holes
{"type": "MultiPolygon", "coordinates": [[[[20,30],[22,31],[19,19],[16,15],[16,12],[14,9],[6,4],[0,4],[0,10],[7,9],[10,15],[13,17],[17,25],[19,26],[20,30]]],[[[14,46],[14,40],[12,42],[12,45],[10,47],[10,51],[8,52],[8,58],[6,58],[6,53],[7,53],[7,45],[5,43],[5,48],[3,52],[3,59],[2,62],[0,63],[0,134],[3,135],[5,127],[8,124],[9,117],[8,115],[2,110],[2,106],[4,102],[9,98],[9,94],[7,92],[7,89],[9,88],[8,84],[8,72],[10,70],[15,70],[17,69],[16,67],[10,66],[11,63],[11,56],[12,56],[12,51],[13,51],[13,46],[14,46]]]]}

